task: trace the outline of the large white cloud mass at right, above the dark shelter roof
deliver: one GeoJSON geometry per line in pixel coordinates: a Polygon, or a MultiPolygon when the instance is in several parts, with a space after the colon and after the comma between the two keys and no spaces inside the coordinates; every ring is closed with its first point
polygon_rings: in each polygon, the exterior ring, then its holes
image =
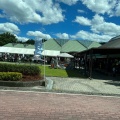
{"type": "MultiPolygon", "coordinates": [[[[78,22],[79,24],[90,25],[90,24],[84,24],[87,18],[80,16],[77,17],[79,19],[76,19],[75,21],[78,22]]],[[[111,22],[106,22],[103,16],[100,16],[98,14],[96,14],[92,20],[89,20],[89,23],[91,23],[90,25],[91,31],[80,30],[75,35],[70,35],[70,37],[72,39],[107,42],[112,37],[120,35],[120,25],[111,22]]]]}

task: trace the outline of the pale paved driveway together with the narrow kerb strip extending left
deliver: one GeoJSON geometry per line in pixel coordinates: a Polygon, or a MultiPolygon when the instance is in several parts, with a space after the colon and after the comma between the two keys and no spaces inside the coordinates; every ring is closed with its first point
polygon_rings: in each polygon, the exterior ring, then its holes
{"type": "MultiPolygon", "coordinates": [[[[4,87],[0,86],[0,90],[22,90],[22,91],[49,91],[60,93],[74,94],[92,94],[92,95],[109,95],[120,97],[120,79],[82,79],[82,78],[59,78],[47,77],[53,81],[49,87],[4,87]],[[52,88],[52,89],[48,89],[52,88]]],[[[49,82],[50,83],[50,82],[49,82]]]]}

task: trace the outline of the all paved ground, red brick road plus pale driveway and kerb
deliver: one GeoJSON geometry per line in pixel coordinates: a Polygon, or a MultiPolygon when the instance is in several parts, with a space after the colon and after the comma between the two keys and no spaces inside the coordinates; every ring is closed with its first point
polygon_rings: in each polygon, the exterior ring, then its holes
{"type": "Polygon", "coordinates": [[[49,78],[54,82],[52,90],[40,86],[0,87],[0,120],[120,120],[120,81],[103,78],[49,78]]]}

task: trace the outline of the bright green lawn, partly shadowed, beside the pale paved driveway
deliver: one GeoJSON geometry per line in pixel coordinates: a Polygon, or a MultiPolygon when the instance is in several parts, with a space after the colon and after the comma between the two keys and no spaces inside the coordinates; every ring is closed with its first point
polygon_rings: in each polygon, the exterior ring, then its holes
{"type": "Polygon", "coordinates": [[[44,75],[45,71],[45,76],[51,76],[51,77],[83,77],[83,75],[80,74],[78,70],[64,70],[64,69],[54,69],[51,68],[50,66],[45,66],[44,70],[44,65],[39,66],[41,69],[41,74],[44,75]]]}

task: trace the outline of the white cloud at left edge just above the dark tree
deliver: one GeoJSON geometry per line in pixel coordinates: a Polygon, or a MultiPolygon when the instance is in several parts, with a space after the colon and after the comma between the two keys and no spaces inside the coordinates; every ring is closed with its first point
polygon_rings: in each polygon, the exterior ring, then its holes
{"type": "Polygon", "coordinates": [[[0,32],[10,32],[18,34],[20,29],[13,23],[0,23],[0,32]]]}

